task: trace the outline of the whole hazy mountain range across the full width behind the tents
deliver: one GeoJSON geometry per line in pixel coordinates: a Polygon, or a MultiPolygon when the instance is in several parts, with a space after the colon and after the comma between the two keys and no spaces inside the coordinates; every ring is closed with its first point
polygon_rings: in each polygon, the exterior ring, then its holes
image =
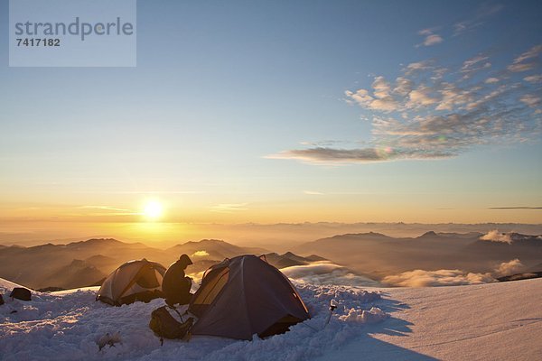
{"type": "Polygon", "coordinates": [[[487,235],[476,232],[429,231],[417,237],[350,233],[295,246],[292,252],[282,255],[218,239],[158,249],[142,243],[94,238],[67,245],[0,246],[0,277],[33,289],[70,289],[100,284],[108,273],[129,260],[146,258],[167,267],[182,254],[192,258],[188,273],[200,273],[224,258],[247,254],[265,255],[266,261],[277,268],[330,260],[376,280],[415,269],[486,273],[516,258],[523,264],[519,273],[542,272],[542,236],[494,236],[494,240],[488,240],[487,235]]]}

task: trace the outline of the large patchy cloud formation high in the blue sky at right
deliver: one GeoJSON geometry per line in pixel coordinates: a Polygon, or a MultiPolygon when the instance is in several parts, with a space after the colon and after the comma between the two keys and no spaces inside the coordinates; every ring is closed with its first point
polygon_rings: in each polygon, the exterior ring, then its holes
{"type": "MultiPolygon", "coordinates": [[[[540,51],[531,47],[510,65],[530,64],[540,51]]],[[[542,133],[542,94],[532,85],[541,76],[519,76],[506,65],[493,69],[481,53],[455,69],[420,60],[400,71],[395,80],[377,75],[369,88],[344,92],[370,122],[372,138],[363,147],[313,145],[266,158],[319,164],[444,159],[475,146],[538,140],[542,133]]]]}

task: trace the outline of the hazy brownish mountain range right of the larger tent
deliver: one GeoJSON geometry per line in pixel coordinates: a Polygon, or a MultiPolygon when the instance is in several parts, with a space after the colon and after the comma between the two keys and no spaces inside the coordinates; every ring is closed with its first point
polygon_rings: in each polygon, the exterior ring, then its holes
{"type": "Polygon", "coordinates": [[[477,232],[429,231],[417,237],[391,237],[369,232],[322,238],[292,251],[322,255],[376,279],[414,269],[490,272],[500,263],[516,258],[526,268],[542,262],[542,236],[510,233],[496,235],[499,240],[493,241],[482,236],[477,232]]]}

